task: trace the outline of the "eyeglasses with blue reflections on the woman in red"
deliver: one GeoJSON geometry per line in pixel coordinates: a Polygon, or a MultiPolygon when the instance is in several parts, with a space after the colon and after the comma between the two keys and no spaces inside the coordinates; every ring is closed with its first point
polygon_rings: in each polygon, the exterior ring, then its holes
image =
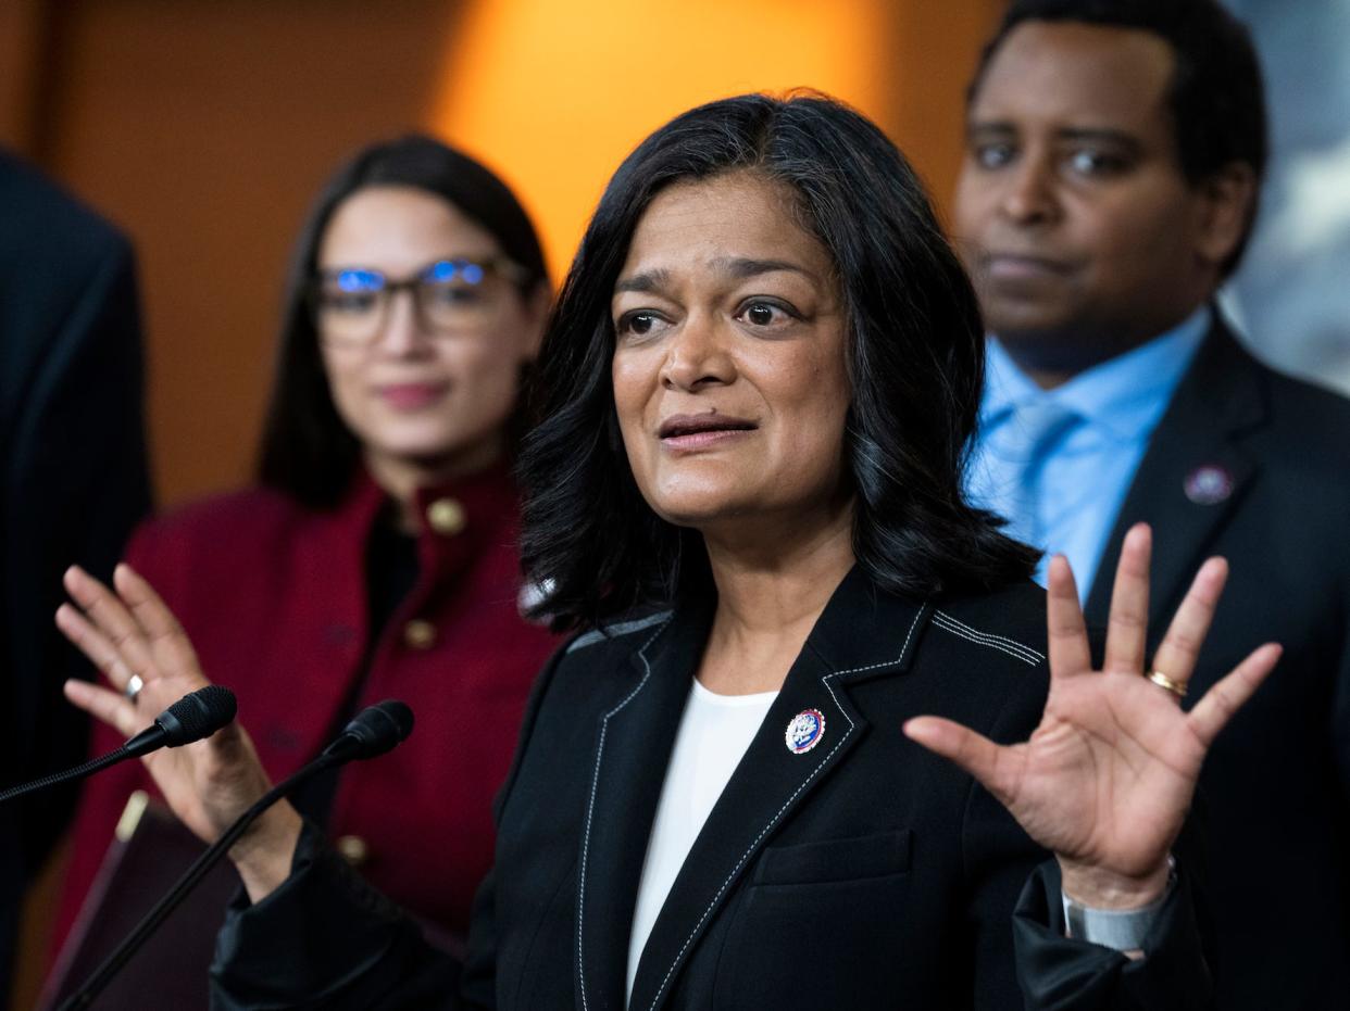
{"type": "Polygon", "coordinates": [[[408,290],[423,326],[435,333],[473,333],[491,322],[501,298],[494,280],[521,283],[512,260],[436,260],[412,278],[390,280],[367,267],[324,270],[310,282],[309,305],[319,336],[333,344],[370,344],[389,321],[389,305],[408,290]]]}

